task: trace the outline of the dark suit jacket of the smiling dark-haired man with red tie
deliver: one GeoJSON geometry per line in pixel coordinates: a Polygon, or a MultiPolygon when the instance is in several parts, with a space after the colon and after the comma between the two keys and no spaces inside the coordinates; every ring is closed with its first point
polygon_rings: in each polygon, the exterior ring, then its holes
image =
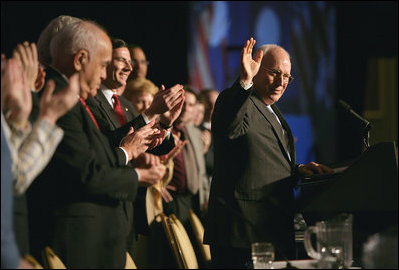
{"type": "MultiPolygon", "coordinates": [[[[94,98],[87,99],[87,105],[97,119],[101,131],[108,136],[113,146],[119,145],[119,142],[126,135],[130,126],[133,126],[133,128],[137,130],[146,124],[142,115],[135,115],[133,105],[126,98],[119,96],[119,101],[127,122],[122,127],[114,109],[101,90],[98,90],[94,98]]],[[[162,155],[168,153],[174,146],[173,137],[170,136],[168,140],[149,152],[162,155]]],[[[131,254],[133,254],[136,234],[148,234],[150,230],[147,223],[146,194],[147,189],[145,187],[140,187],[133,206],[131,203],[126,203],[124,205],[129,225],[132,228],[127,239],[127,250],[131,254]],[[134,226],[132,226],[132,224],[134,226]]]]}

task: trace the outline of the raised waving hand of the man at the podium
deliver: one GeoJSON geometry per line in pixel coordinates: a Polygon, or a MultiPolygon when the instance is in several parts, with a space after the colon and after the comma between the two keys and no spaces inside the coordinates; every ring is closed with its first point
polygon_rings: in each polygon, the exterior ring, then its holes
{"type": "Polygon", "coordinates": [[[248,84],[252,82],[252,78],[258,73],[263,57],[263,51],[259,50],[255,60],[252,59],[252,50],[255,43],[256,40],[251,37],[250,40],[247,40],[244,48],[241,51],[240,79],[244,83],[248,84]]]}

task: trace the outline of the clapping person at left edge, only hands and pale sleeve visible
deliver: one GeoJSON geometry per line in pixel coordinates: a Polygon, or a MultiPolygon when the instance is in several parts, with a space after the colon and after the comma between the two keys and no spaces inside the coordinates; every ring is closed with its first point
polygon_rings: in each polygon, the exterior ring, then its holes
{"type": "Polygon", "coordinates": [[[63,136],[62,129],[55,122],[76,104],[79,92],[75,83],[53,95],[54,85],[49,84],[40,99],[38,118],[31,124],[28,118],[33,103],[31,89],[37,79],[37,66],[35,44],[19,44],[13,58],[7,63],[2,92],[7,115],[4,128],[13,157],[14,230],[22,255],[29,253],[24,193],[53,156],[63,136]]]}

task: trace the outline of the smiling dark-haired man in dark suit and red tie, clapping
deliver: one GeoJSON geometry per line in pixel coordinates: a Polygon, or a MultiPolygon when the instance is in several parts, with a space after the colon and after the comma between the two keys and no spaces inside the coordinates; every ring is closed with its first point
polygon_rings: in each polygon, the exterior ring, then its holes
{"type": "MultiPolygon", "coordinates": [[[[160,110],[164,104],[160,104],[163,100],[158,98],[154,102],[152,102],[151,106],[143,111],[137,119],[134,116],[132,105],[122,96],[117,94],[117,90],[120,87],[126,86],[126,80],[132,71],[130,53],[127,48],[127,44],[122,39],[112,39],[112,61],[107,67],[107,78],[102,82],[100,86],[100,90],[97,95],[93,99],[88,99],[87,104],[92,110],[97,122],[99,124],[100,130],[105,134],[110,135],[114,133],[114,131],[118,128],[127,129],[130,126],[133,126],[134,129],[138,129],[141,126],[144,126],[146,123],[149,123],[153,120],[154,116],[157,114],[163,113],[160,110]],[[119,109],[118,109],[119,108],[119,109]],[[148,116],[147,116],[148,115],[148,116]],[[135,119],[135,120],[134,120],[135,119]],[[134,120],[134,121],[133,121],[134,120]]],[[[170,91],[170,90],[166,90],[170,91]]],[[[166,92],[165,92],[166,93],[166,92]]],[[[162,93],[161,93],[162,94],[162,93]]],[[[174,102],[175,106],[180,106],[180,110],[175,110],[175,115],[179,114],[181,111],[181,107],[183,102],[183,89],[181,91],[176,91],[176,100],[170,99],[170,101],[165,101],[165,105],[171,106],[170,103],[174,102]]],[[[166,96],[165,96],[166,97],[166,96]]],[[[173,108],[171,111],[174,111],[173,108]]],[[[174,119],[177,116],[173,116],[173,114],[169,112],[169,118],[167,119],[168,125],[169,123],[173,123],[174,119]],[[171,118],[171,119],[170,119],[171,118]]],[[[164,117],[166,118],[166,117],[164,117]]],[[[121,138],[120,138],[121,139],[121,138]]],[[[119,139],[119,141],[120,141],[119,139]]],[[[111,143],[113,138],[111,137],[111,143]]],[[[117,141],[116,141],[117,142],[117,141]]],[[[118,146],[117,145],[113,146],[118,146]]],[[[174,147],[174,139],[172,136],[169,136],[167,139],[163,141],[163,143],[154,148],[151,153],[154,154],[166,154],[174,147]]],[[[136,238],[137,233],[148,233],[148,224],[147,224],[147,216],[145,209],[145,194],[146,187],[141,187],[138,190],[138,196],[136,201],[134,202],[134,216],[132,203],[126,202],[124,204],[124,209],[127,215],[127,219],[129,222],[129,227],[132,227],[131,233],[128,236],[128,251],[133,254],[133,245],[134,239],[136,238]],[[134,226],[132,223],[134,222],[134,226]]]]}

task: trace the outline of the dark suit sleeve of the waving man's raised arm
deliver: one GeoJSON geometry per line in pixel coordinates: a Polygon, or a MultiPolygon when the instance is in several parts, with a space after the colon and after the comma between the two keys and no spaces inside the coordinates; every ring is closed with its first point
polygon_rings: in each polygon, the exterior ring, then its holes
{"type": "Polygon", "coordinates": [[[218,97],[213,113],[212,132],[222,133],[233,139],[248,129],[246,117],[252,87],[245,90],[238,81],[218,97]]]}

